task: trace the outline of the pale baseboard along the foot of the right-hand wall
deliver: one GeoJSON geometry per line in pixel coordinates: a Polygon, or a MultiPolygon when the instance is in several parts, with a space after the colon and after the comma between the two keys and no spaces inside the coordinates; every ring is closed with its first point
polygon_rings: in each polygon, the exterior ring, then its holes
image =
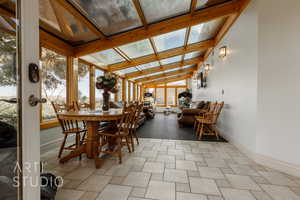
{"type": "MultiPolygon", "coordinates": [[[[224,137],[224,136],[222,135],[222,137],[224,137]]],[[[300,166],[299,165],[287,163],[284,161],[280,161],[280,160],[271,158],[269,156],[258,154],[256,152],[249,150],[244,145],[241,145],[236,142],[232,142],[231,140],[229,140],[229,138],[226,138],[226,136],[224,138],[230,144],[232,144],[236,148],[238,148],[248,158],[251,158],[252,160],[254,160],[256,163],[264,165],[264,166],[272,168],[272,169],[275,169],[275,170],[278,170],[278,171],[281,171],[283,173],[286,173],[286,174],[289,174],[292,176],[300,177],[300,166]]]]}

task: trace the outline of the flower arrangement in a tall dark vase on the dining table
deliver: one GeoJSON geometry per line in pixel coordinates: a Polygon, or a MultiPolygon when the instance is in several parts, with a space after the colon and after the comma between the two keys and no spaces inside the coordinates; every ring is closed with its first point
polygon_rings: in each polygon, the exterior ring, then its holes
{"type": "Polygon", "coordinates": [[[110,93],[117,93],[118,89],[117,85],[117,77],[111,73],[105,73],[103,76],[98,76],[96,79],[96,88],[99,90],[104,90],[103,95],[103,105],[102,110],[109,110],[109,99],[110,93]]]}

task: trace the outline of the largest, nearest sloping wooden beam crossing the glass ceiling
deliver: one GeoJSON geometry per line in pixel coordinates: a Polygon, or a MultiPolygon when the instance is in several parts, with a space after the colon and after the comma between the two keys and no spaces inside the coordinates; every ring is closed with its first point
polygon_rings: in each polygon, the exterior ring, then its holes
{"type": "Polygon", "coordinates": [[[78,57],[84,56],[164,33],[176,31],[185,27],[201,24],[217,18],[227,17],[240,10],[240,1],[241,0],[233,0],[221,5],[196,11],[193,15],[188,13],[186,15],[174,17],[172,19],[148,25],[147,29],[142,27],[112,36],[109,38],[109,40],[96,40],[87,44],[79,45],[75,49],[75,55],[78,57]]]}

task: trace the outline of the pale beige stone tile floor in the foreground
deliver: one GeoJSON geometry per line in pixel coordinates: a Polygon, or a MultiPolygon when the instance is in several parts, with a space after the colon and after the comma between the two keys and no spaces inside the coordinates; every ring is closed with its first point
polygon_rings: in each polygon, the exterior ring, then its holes
{"type": "Polygon", "coordinates": [[[102,168],[83,157],[61,165],[57,149],[45,171],[63,177],[56,200],[300,200],[300,178],[258,165],[228,143],[140,139],[123,164],[102,168]]]}

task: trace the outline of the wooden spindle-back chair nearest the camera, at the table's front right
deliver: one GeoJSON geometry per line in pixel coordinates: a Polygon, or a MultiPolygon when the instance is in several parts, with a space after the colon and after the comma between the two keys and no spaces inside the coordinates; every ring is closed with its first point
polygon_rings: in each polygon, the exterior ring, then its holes
{"type": "Polygon", "coordinates": [[[98,153],[117,155],[119,157],[119,163],[122,163],[122,147],[126,145],[128,151],[131,152],[129,131],[134,115],[135,106],[125,105],[123,108],[123,117],[117,124],[117,130],[112,132],[106,130],[98,132],[100,136],[98,153]],[[108,145],[106,150],[103,149],[105,145],[108,145]]]}

